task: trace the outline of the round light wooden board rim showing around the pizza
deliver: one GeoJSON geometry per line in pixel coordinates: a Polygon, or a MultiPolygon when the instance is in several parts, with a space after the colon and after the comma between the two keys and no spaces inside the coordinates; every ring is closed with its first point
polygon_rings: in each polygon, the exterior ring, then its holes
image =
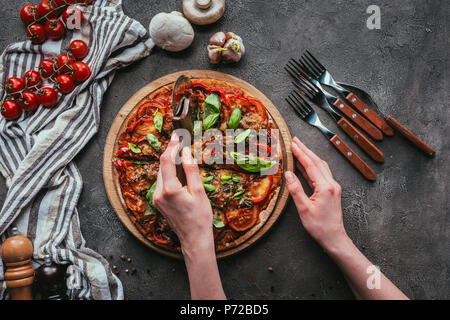
{"type": "MultiPolygon", "coordinates": [[[[175,80],[181,75],[186,75],[192,78],[211,78],[228,81],[232,84],[235,84],[247,90],[249,94],[259,99],[264,104],[273,121],[275,122],[276,126],[280,130],[280,144],[283,156],[283,172],[285,172],[286,170],[289,171],[294,170],[294,161],[291,150],[289,148],[289,144],[291,141],[291,134],[284,119],[281,117],[281,114],[278,112],[277,108],[273,105],[273,103],[261,91],[259,91],[251,84],[239,78],[211,70],[186,70],[172,73],[157,80],[154,80],[151,83],[147,84],[142,89],[140,89],[138,92],[136,92],[120,109],[119,113],[117,114],[116,118],[114,119],[111,125],[108,136],[106,137],[105,149],[103,153],[103,181],[105,183],[106,193],[108,194],[109,201],[111,202],[111,205],[116,211],[116,214],[119,217],[120,221],[122,221],[124,226],[137,239],[139,239],[146,246],[152,248],[153,250],[159,253],[179,259],[183,258],[181,254],[165,250],[164,248],[161,248],[153,244],[149,240],[145,239],[144,236],[138,231],[138,229],[131,222],[126,212],[127,208],[125,202],[122,199],[120,193],[120,186],[118,183],[118,177],[114,171],[115,169],[111,160],[113,158],[115,148],[117,146],[117,138],[119,132],[121,132],[122,127],[126,124],[127,118],[130,115],[130,113],[134,110],[134,108],[149,93],[161,88],[162,86],[175,82],[175,80]]],[[[217,254],[217,258],[224,258],[232,254],[238,253],[254,244],[258,239],[260,239],[264,234],[266,234],[269,231],[269,229],[274,225],[274,223],[278,220],[284,208],[286,207],[288,197],[289,192],[283,180],[280,192],[278,194],[278,199],[275,203],[275,206],[272,209],[272,214],[270,215],[269,219],[265,222],[265,224],[245,242],[229,250],[219,252],[217,254]]]]}

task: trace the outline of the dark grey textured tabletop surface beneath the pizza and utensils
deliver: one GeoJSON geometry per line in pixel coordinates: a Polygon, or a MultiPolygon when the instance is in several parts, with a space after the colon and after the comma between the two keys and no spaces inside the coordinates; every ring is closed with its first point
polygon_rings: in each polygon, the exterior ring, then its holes
{"type": "MultiPolygon", "coordinates": [[[[0,49],[24,39],[21,1],[2,0],[0,49]]],[[[37,2],[37,1],[32,1],[37,2]]],[[[192,46],[181,53],[155,49],[151,56],[117,73],[105,95],[95,138],[77,156],[84,179],[78,204],[87,244],[121,270],[130,299],[187,299],[184,265],[135,240],[117,219],[102,180],[101,158],[108,129],[123,103],[148,82],[185,69],[216,69],[240,77],[265,93],[291,130],[326,159],[343,187],[345,225],[371,261],[411,298],[450,298],[449,22],[446,0],[378,0],[382,29],[366,28],[372,0],[227,1],[217,23],[195,27],[192,46]],[[247,55],[236,65],[211,66],[206,45],[216,31],[234,31],[247,55]],[[343,81],[370,92],[380,109],[429,142],[429,159],[400,135],[377,143],[382,165],[362,157],[378,175],[365,181],[313,128],[284,102],[290,79],[282,66],[310,49],[343,81]],[[120,260],[120,255],[132,262],[120,260]],[[125,268],[135,266],[135,275],[125,268]]],[[[148,26],[156,13],[181,10],[181,1],[124,0],[126,14],[148,26]]],[[[325,124],[337,130],[319,111],[325,124]]],[[[357,147],[344,137],[352,147],[357,147]]],[[[361,154],[362,152],[358,150],[361,154]]],[[[0,205],[5,197],[0,179],[0,205]]],[[[220,261],[229,298],[352,299],[339,269],[307,235],[292,202],[271,232],[248,251],[220,261]],[[274,272],[268,272],[272,267],[274,272]]]]}

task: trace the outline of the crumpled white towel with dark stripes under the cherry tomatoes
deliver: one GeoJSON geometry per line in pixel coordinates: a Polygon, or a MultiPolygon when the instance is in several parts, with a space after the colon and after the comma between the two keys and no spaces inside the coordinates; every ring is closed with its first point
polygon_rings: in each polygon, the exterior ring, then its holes
{"type": "MultiPolygon", "coordinates": [[[[123,13],[121,0],[95,0],[84,17],[81,29],[68,30],[61,41],[13,43],[0,57],[0,81],[5,83],[82,39],[89,46],[83,61],[92,71],[55,107],[39,107],[15,121],[1,118],[0,171],[8,191],[0,211],[0,243],[15,225],[33,241],[36,263],[48,253],[56,263],[70,266],[69,289],[77,298],[123,299],[120,280],[81,235],[76,205],[82,179],[73,158],[98,130],[103,94],[115,71],[149,55],[153,42],[139,22],[123,13]]],[[[3,269],[0,260],[0,299],[7,298],[3,269]]]]}

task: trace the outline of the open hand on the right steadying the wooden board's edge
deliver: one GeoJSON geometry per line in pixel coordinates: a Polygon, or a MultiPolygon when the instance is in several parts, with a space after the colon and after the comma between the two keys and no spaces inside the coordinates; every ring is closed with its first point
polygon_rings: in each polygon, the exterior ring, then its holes
{"type": "Polygon", "coordinates": [[[291,143],[296,165],[314,194],[308,198],[294,173],[285,173],[287,188],[294,199],[306,231],[325,249],[347,239],[341,208],[341,186],[333,179],[328,164],[297,138],[291,143]]]}

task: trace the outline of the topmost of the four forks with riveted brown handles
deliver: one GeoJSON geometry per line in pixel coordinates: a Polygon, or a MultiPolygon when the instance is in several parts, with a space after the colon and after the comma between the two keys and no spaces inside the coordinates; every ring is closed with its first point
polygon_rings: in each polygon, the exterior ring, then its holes
{"type": "Polygon", "coordinates": [[[367,104],[365,104],[356,94],[343,88],[334,80],[328,70],[308,51],[302,55],[299,60],[303,62],[312,77],[320,83],[333,87],[339,94],[344,96],[352,103],[356,109],[361,112],[367,119],[379,128],[387,136],[393,136],[394,130],[383,120],[375,111],[373,111],[367,104]]]}

